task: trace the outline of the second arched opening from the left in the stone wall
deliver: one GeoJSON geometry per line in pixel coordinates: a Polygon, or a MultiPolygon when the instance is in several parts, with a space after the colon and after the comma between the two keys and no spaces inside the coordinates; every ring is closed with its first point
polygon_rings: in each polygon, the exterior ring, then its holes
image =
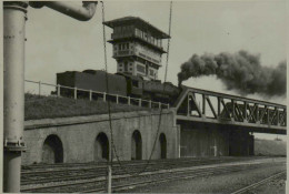
{"type": "Polygon", "coordinates": [[[106,133],[99,133],[94,142],[94,161],[109,160],[109,141],[106,133]]]}

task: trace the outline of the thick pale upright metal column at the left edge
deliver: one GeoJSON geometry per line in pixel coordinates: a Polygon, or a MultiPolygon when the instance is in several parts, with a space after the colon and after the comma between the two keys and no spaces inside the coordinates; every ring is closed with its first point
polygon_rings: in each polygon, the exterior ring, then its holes
{"type": "Polygon", "coordinates": [[[3,2],[4,160],[3,192],[20,192],[24,150],[24,27],[27,2],[3,2]]]}

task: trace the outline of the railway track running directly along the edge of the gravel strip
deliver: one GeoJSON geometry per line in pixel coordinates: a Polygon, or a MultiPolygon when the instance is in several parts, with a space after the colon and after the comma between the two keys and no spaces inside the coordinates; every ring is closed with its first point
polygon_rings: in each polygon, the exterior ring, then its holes
{"type": "MultiPolygon", "coordinates": [[[[252,169],[255,166],[250,166],[252,169]]],[[[138,176],[122,175],[114,176],[112,180],[112,190],[121,191],[127,190],[131,186],[147,185],[151,183],[160,183],[163,181],[206,176],[215,173],[226,173],[232,171],[241,171],[243,166],[233,166],[233,167],[211,167],[211,169],[200,169],[200,170],[179,170],[173,172],[156,172],[156,173],[144,173],[138,176]]],[[[37,192],[37,193],[70,193],[70,192],[81,192],[81,193],[92,193],[92,192],[104,192],[106,188],[106,177],[101,180],[88,180],[80,182],[63,183],[57,185],[48,186],[36,186],[33,188],[21,190],[21,192],[37,192]]]]}

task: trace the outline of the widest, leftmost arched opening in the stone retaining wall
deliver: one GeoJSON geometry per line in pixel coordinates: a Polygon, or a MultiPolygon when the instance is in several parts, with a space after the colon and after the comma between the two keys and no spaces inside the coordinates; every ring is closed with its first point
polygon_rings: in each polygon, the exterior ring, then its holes
{"type": "Polygon", "coordinates": [[[48,164],[63,163],[63,146],[57,135],[49,135],[42,150],[42,162],[48,164]]]}

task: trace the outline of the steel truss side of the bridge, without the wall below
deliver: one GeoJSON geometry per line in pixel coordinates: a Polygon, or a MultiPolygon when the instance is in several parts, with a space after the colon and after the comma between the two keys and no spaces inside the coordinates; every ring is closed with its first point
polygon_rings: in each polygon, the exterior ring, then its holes
{"type": "Polygon", "coordinates": [[[287,106],[230,94],[188,88],[177,105],[178,115],[286,126],[287,106]]]}

